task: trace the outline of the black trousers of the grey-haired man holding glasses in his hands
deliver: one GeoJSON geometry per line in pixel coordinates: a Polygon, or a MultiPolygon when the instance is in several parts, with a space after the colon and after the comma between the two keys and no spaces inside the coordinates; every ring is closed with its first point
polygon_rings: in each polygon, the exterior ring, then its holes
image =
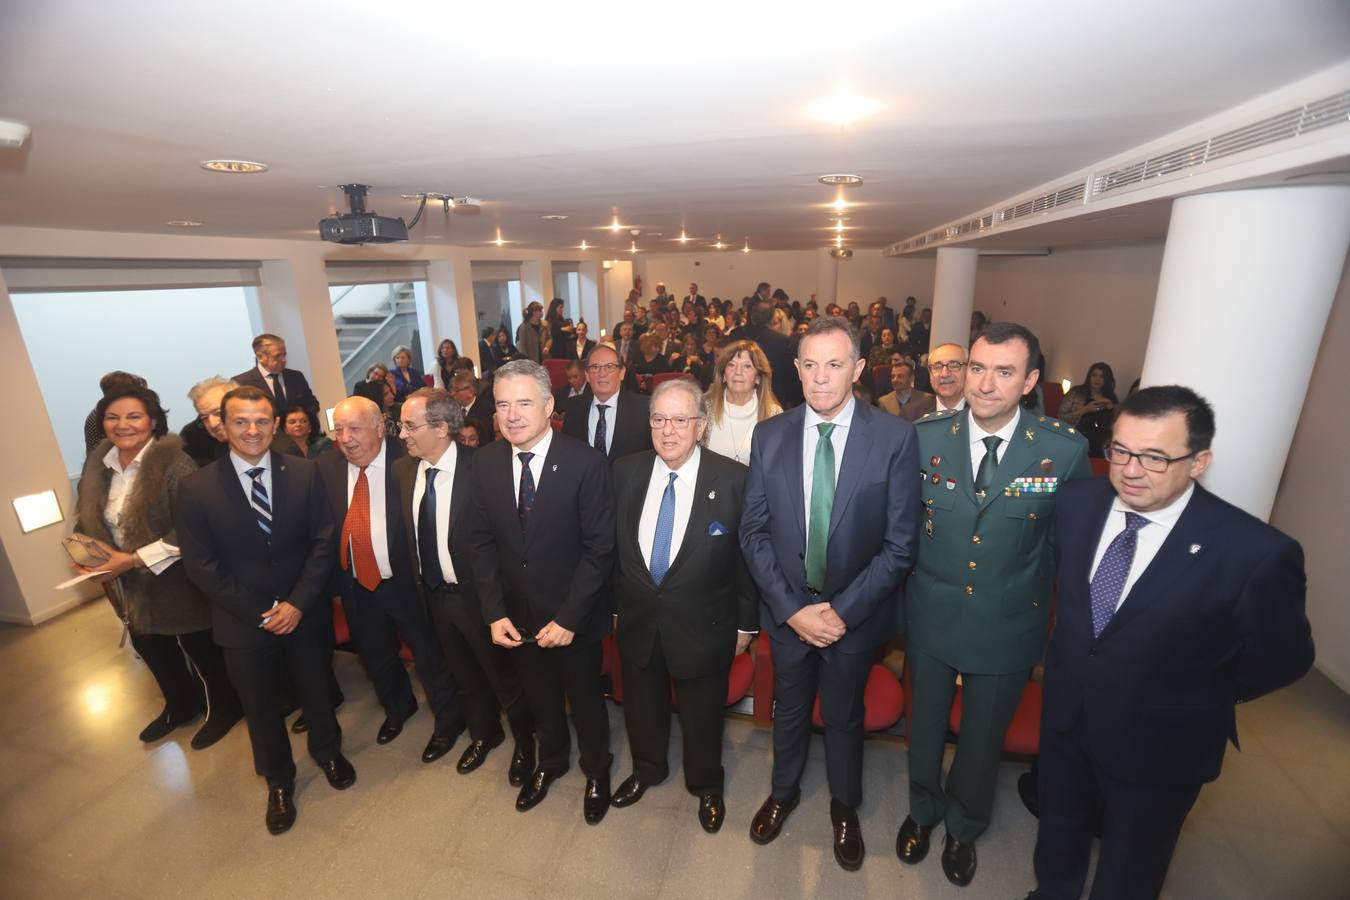
{"type": "Polygon", "coordinates": [[[572,750],[567,730],[567,704],[571,704],[582,772],[590,779],[608,779],[614,757],[609,752],[609,710],[599,680],[599,640],[575,640],[547,650],[522,644],[509,653],[535,718],[539,769],[554,776],[567,772],[572,750]]]}

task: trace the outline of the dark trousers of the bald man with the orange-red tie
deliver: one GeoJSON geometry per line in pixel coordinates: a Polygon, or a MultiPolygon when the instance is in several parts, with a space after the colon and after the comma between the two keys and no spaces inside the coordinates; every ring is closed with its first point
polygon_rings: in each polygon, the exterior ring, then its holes
{"type": "Polygon", "coordinates": [[[431,619],[414,588],[400,590],[389,579],[374,591],[367,591],[346,572],[340,572],[339,578],[351,642],[375,685],[385,715],[392,722],[402,722],[417,710],[408,669],[398,656],[401,637],[413,653],[413,667],[436,716],[436,734],[454,737],[463,731],[464,715],[455,696],[455,680],[446,668],[440,646],[432,636],[431,619]]]}

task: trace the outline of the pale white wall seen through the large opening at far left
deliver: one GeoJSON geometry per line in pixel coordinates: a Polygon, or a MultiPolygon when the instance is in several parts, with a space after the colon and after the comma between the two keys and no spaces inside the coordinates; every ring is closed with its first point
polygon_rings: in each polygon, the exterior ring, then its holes
{"type": "Polygon", "coordinates": [[[170,429],[178,430],[197,414],[189,387],[209,375],[230,378],[254,362],[243,287],[11,300],[72,476],[84,466],[84,421],[99,402],[105,372],[122,368],[143,376],[169,410],[170,429]]]}

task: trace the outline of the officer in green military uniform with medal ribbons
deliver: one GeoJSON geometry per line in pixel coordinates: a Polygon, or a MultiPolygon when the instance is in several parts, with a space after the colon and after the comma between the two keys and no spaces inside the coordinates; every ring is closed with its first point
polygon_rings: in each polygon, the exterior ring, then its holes
{"type": "Polygon", "coordinates": [[[1040,341],[1022,325],[990,325],[971,347],[967,409],[915,422],[922,534],[906,591],[910,814],[895,841],[902,862],[927,854],[946,826],[942,872],[975,877],[975,839],[988,827],[1003,735],[1045,648],[1060,483],[1091,475],[1087,441],[1033,414],[1040,341]],[[948,715],[961,676],[961,730],[941,781],[948,715]]]}

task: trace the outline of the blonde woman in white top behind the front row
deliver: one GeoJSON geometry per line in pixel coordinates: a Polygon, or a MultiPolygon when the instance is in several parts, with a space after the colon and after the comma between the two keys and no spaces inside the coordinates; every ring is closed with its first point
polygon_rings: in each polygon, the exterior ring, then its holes
{"type": "Polygon", "coordinates": [[[768,358],[755,341],[732,341],[718,352],[707,389],[707,449],[749,464],[755,426],[783,412],[772,379],[768,358]]]}

